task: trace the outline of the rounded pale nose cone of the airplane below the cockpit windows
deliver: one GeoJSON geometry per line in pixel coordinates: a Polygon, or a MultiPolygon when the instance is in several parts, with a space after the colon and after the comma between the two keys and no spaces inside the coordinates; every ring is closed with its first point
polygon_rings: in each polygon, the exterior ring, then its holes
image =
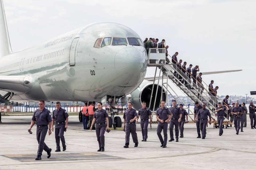
{"type": "Polygon", "coordinates": [[[126,47],[115,56],[115,70],[123,87],[139,86],[147,70],[147,57],[143,47],[126,47]]]}

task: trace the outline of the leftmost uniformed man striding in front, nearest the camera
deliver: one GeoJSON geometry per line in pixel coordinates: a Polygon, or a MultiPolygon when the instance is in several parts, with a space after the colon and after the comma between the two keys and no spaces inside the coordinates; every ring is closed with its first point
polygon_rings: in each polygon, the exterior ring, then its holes
{"type": "Polygon", "coordinates": [[[41,155],[43,150],[47,152],[47,158],[51,156],[51,148],[49,148],[45,144],[45,136],[48,131],[48,124],[49,124],[49,135],[51,134],[51,112],[45,108],[45,101],[39,100],[39,109],[37,109],[33,116],[32,121],[30,124],[29,131],[31,131],[32,127],[34,126],[35,122],[37,122],[37,142],[38,142],[38,150],[37,150],[37,157],[35,160],[41,160],[41,155]]]}

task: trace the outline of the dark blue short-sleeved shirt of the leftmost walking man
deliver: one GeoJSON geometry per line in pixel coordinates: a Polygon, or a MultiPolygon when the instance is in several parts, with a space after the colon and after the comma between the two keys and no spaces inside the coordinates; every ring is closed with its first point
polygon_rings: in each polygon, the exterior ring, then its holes
{"type": "Polygon", "coordinates": [[[53,121],[51,118],[51,112],[46,108],[42,111],[37,109],[32,116],[32,120],[37,122],[37,126],[48,125],[49,122],[53,121]]]}

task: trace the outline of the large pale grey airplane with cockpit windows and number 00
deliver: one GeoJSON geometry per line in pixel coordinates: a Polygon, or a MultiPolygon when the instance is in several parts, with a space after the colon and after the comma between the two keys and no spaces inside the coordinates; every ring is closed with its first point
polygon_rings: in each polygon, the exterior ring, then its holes
{"type": "Polygon", "coordinates": [[[105,101],[114,107],[133,93],[138,110],[141,98],[148,99],[148,56],[131,28],[92,23],[12,52],[2,0],[0,5],[0,102],[105,101]]]}

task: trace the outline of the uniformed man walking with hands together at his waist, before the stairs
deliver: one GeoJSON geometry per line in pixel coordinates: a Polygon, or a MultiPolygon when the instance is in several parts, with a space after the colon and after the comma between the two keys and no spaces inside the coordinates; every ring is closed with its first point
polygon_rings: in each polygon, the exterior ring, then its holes
{"type": "Polygon", "coordinates": [[[157,109],[155,115],[157,117],[157,120],[159,121],[157,125],[157,136],[161,142],[160,146],[166,148],[168,122],[170,121],[173,114],[171,113],[169,108],[165,107],[165,101],[162,100],[161,107],[157,109]],[[161,135],[162,130],[164,139],[161,135]]]}

